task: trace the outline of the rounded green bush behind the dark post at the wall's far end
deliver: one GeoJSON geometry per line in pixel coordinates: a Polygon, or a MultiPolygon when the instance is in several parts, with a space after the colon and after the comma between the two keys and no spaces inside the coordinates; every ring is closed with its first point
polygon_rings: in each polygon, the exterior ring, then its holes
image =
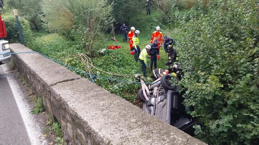
{"type": "MultiPolygon", "coordinates": [[[[20,42],[19,31],[17,28],[17,23],[14,15],[3,15],[5,21],[5,28],[7,32],[6,40],[9,43],[20,42]]],[[[31,31],[31,26],[29,21],[23,17],[19,17],[22,35],[24,38],[24,43],[28,44],[33,39],[33,33],[31,31]]]]}

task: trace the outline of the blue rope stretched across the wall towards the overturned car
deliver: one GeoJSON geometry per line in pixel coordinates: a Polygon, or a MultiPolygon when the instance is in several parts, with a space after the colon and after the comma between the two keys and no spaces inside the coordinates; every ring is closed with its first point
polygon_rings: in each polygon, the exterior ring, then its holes
{"type": "MultiPolygon", "coordinates": [[[[58,60],[55,60],[55,59],[53,59],[53,58],[50,58],[50,57],[48,57],[48,56],[46,56],[46,55],[44,55],[44,54],[41,54],[41,53],[39,53],[39,52],[37,52],[37,51],[16,52],[16,53],[4,53],[4,54],[0,54],[0,55],[6,55],[6,54],[22,54],[22,53],[38,53],[38,54],[40,54],[41,56],[44,56],[45,58],[48,58],[48,59],[50,59],[50,60],[52,60],[52,61],[54,61],[54,62],[56,62],[56,63],[58,63],[58,64],[61,64],[61,65],[63,65],[63,66],[66,66],[66,67],[68,67],[68,68],[70,68],[70,69],[72,69],[72,70],[79,71],[80,73],[83,73],[83,74],[85,74],[85,75],[89,75],[92,82],[94,82],[95,78],[98,77],[98,78],[101,78],[101,79],[107,79],[107,80],[111,80],[111,81],[119,81],[119,82],[125,82],[125,83],[141,84],[141,82],[124,81],[124,80],[119,80],[119,79],[112,79],[112,78],[107,78],[107,77],[101,77],[101,76],[97,76],[97,75],[92,75],[92,74],[90,74],[90,73],[83,72],[82,70],[79,70],[79,69],[77,69],[77,68],[71,67],[71,66],[66,65],[66,64],[64,64],[64,63],[62,63],[62,62],[59,62],[58,60]]],[[[144,83],[144,84],[153,84],[153,83],[144,83]]],[[[158,83],[157,83],[157,84],[158,84],[158,83]]]]}

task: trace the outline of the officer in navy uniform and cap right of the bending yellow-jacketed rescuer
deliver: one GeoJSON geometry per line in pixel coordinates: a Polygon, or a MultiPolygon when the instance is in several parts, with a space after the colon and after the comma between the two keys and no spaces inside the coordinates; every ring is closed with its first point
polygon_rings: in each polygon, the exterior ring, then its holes
{"type": "Polygon", "coordinates": [[[157,68],[157,55],[159,55],[157,39],[154,41],[154,43],[151,44],[151,50],[148,52],[148,55],[151,56],[150,72],[152,72],[153,63],[154,63],[155,69],[157,68]]]}

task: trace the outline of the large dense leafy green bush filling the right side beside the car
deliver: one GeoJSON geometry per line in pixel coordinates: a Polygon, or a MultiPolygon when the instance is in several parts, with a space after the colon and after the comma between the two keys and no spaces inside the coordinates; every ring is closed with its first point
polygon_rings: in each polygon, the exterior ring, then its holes
{"type": "Polygon", "coordinates": [[[209,144],[258,144],[258,7],[219,0],[207,15],[191,9],[182,22],[184,103],[195,107],[209,144]]]}

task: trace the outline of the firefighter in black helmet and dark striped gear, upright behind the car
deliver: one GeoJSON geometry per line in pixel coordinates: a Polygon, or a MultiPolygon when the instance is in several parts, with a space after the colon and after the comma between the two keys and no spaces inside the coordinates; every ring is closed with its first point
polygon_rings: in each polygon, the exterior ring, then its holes
{"type": "Polygon", "coordinates": [[[174,46],[168,45],[167,46],[167,62],[165,63],[165,67],[168,69],[170,67],[170,64],[177,64],[179,57],[177,56],[176,49],[174,49],[174,46]]]}

